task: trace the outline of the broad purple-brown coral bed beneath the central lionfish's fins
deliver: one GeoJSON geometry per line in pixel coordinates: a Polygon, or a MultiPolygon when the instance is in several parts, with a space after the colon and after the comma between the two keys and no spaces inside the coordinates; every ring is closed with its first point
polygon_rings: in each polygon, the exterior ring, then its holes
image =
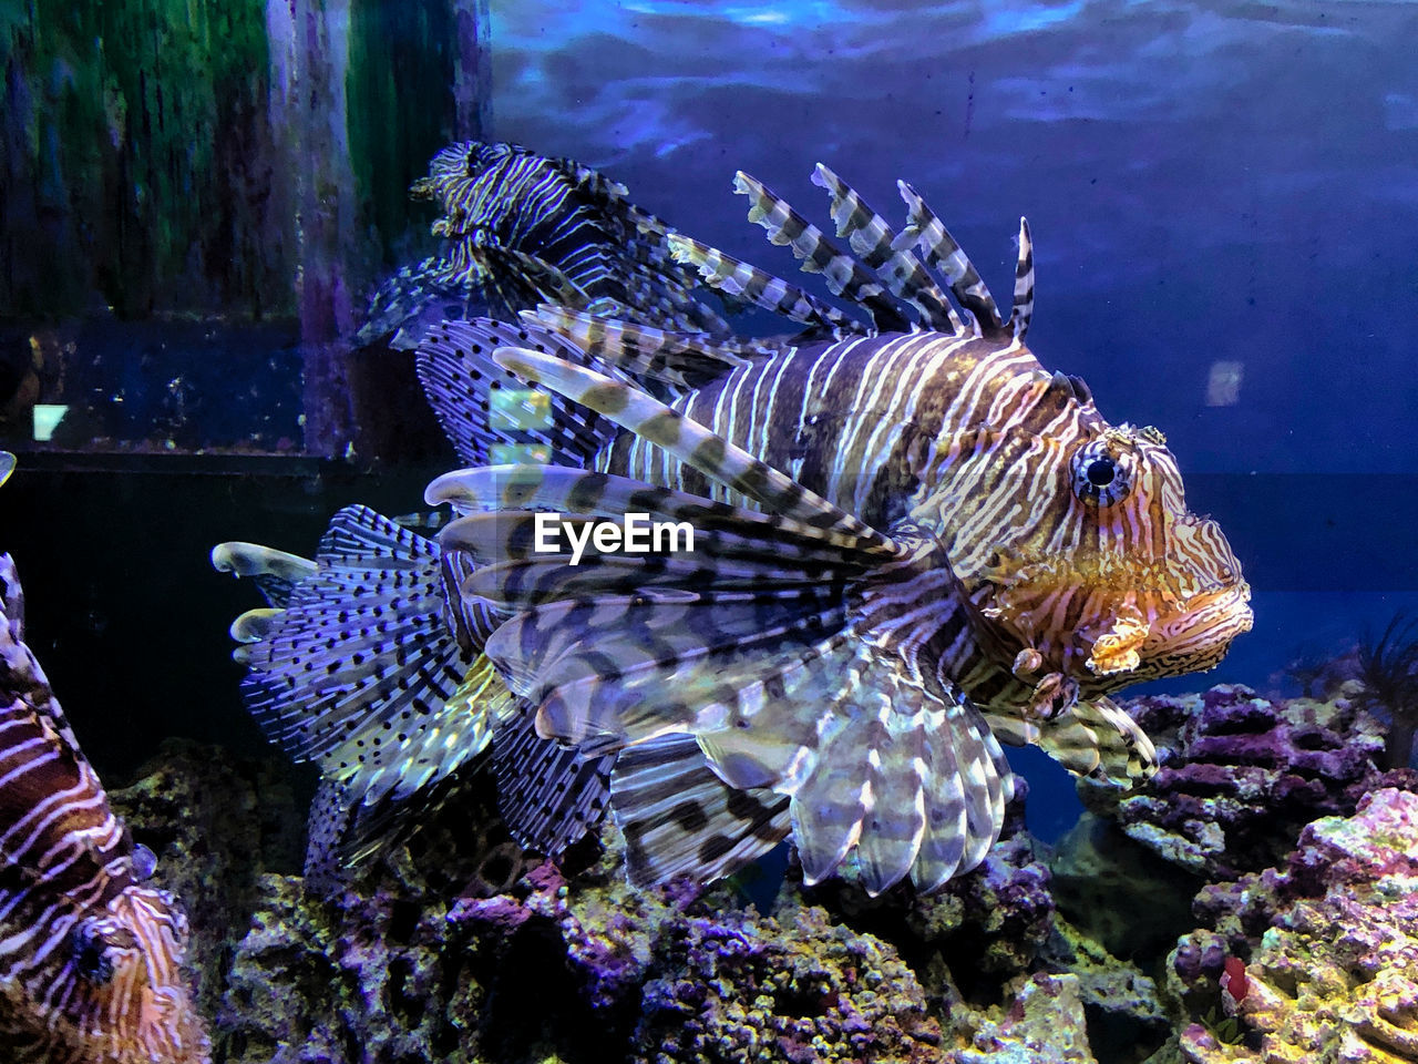
{"type": "Polygon", "coordinates": [[[760,915],[735,881],[628,887],[610,824],[560,870],[529,863],[484,783],[450,780],[329,897],[267,871],[301,847],[261,763],[174,743],[121,793],[159,877],[193,898],[218,1060],[1044,1064],[1164,1036],[1151,980],[1058,918],[1018,806],[936,895],[804,898],[790,877],[760,915]]]}

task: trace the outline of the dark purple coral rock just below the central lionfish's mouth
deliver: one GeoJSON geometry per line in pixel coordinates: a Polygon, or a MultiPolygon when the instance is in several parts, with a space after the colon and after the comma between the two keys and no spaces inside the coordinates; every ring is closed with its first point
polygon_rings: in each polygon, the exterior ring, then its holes
{"type": "Polygon", "coordinates": [[[1117,802],[1116,817],[1132,838],[1210,880],[1275,864],[1302,826],[1351,813],[1380,783],[1383,728],[1349,699],[1276,701],[1225,684],[1132,708],[1163,766],[1117,802]]]}

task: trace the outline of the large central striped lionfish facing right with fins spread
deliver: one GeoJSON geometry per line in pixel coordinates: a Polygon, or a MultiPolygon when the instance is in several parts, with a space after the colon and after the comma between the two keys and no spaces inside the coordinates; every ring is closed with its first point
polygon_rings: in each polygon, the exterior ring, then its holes
{"type": "Polygon", "coordinates": [[[556,853],[608,803],[635,882],[725,875],[791,834],[808,882],[851,867],[872,894],[984,858],[1012,794],[1000,741],[1119,786],[1154,770],[1109,695],[1249,628],[1225,536],[1159,430],[1109,424],[1025,346],[1027,223],[1004,318],[910,186],[898,233],[825,166],[814,183],[855,255],[736,190],[868,322],[648,223],[803,332],[550,305],[430,332],[418,373],[469,468],[425,499],[457,519],[430,541],[343,511],[284,609],[238,620],[268,733],[356,806],[491,742],[519,838],[556,853]],[[547,512],[584,556],[539,542],[547,512]],[[688,523],[692,552],[588,535],[630,514],[688,523]]]}

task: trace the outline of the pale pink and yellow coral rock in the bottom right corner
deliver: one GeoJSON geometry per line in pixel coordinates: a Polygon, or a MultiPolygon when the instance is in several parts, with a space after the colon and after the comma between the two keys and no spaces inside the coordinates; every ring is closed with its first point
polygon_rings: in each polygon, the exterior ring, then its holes
{"type": "MultiPolygon", "coordinates": [[[[1251,919],[1271,909],[1231,1006],[1245,1037],[1224,1044],[1194,1023],[1181,1033],[1185,1060],[1397,1064],[1418,1055],[1418,794],[1385,787],[1351,817],[1316,820],[1285,865],[1254,877],[1236,899],[1251,919]]],[[[1173,955],[1174,976],[1200,992],[1228,948],[1219,935],[1193,936],[1173,955]]]]}

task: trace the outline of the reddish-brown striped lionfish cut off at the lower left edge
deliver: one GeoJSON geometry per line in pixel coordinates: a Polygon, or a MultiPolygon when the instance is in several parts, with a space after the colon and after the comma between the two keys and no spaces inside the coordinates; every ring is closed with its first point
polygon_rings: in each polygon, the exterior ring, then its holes
{"type": "Polygon", "coordinates": [[[183,972],[186,916],[169,892],[142,884],[152,854],[109,809],[24,644],[9,555],[0,555],[0,596],[4,1058],[203,1064],[207,1036],[183,972]]]}

